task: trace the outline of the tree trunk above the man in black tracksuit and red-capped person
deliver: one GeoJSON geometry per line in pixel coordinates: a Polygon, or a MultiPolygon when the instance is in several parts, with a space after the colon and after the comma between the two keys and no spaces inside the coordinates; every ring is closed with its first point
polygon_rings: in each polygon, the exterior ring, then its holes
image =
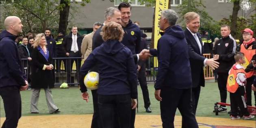
{"type": "Polygon", "coordinates": [[[236,38],[237,34],[236,33],[236,29],[237,29],[237,14],[238,11],[240,10],[240,0],[235,0],[234,2],[234,6],[233,6],[233,11],[232,11],[232,17],[231,17],[231,35],[236,38]]]}

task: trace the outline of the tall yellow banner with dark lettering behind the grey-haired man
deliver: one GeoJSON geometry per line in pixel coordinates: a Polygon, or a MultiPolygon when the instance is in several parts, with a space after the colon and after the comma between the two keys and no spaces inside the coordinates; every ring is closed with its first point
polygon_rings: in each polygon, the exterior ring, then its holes
{"type": "MultiPolygon", "coordinates": [[[[161,18],[161,11],[168,9],[168,3],[169,0],[156,0],[156,6],[155,6],[155,27],[154,27],[154,48],[157,48],[157,41],[161,37],[160,32],[160,26],[159,26],[159,20],[161,18]]],[[[158,63],[156,61],[156,57],[154,57],[154,67],[158,67],[158,63]]]]}

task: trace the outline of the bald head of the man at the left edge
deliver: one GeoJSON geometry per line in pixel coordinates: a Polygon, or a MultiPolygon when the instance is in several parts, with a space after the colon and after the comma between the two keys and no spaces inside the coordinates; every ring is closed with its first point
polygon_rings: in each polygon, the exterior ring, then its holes
{"type": "Polygon", "coordinates": [[[13,35],[19,35],[22,33],[22,23],[19,17],[17,16],[9,16],[4,20],[4,26],[6,30],[13,34],[13,35]]]}

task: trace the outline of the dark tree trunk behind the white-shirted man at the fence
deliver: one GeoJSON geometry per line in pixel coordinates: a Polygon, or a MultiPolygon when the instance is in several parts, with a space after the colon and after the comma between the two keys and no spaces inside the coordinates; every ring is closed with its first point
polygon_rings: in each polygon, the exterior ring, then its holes
{"type": "Polygon", "coordinates": [[[69,5],[67,0],[61,0],[60,4],[65,4],[65,7],[60,9],[59,32],[66,33],[69,15],[69,5]]]}

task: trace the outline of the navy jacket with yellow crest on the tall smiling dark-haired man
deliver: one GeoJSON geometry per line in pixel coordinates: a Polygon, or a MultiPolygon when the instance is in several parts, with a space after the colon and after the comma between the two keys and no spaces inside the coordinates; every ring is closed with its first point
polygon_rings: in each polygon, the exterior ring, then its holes
{"type": "Polygon", "coordinates": [[[132,51],[132,54],[138,54],[139,52],[141,52],[141,30],[139,29],[139,26],[133,24],[132,21],[129,20],[128,24],[123,27],[123,29],[124,38],[121,43],[129,48],[132,51]]]}

